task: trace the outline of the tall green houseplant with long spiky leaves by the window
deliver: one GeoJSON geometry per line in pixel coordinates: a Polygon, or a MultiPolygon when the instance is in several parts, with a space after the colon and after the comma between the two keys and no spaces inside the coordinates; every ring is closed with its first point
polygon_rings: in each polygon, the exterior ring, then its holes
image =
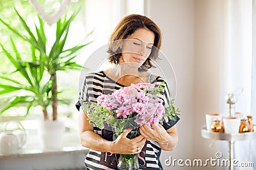
{"type": "Polygon", "coordinates": [[[50,45],[45,35],[46,24],[42,18],[38,16],[38,24],[35,23],[35,27],[31,28],[16,9],[15,12],[22,23],[22,29],[26,30],[26,35],[20,34],[18,29],[1,18],[0,22],[30,46],[30,59],[24,60],[12,37],[10,38],[12,50],[7,50],[0,43],[4,57],[8,58],[15,67],[15,70],[10,74],[1,74],[0,76],[0,96],[3,96],[4,100],[7,101],[0,114],[12,107],[19,106],[19,104],[26,104],[26,115],[28,115],[31,107],[41,106],[44,120],[57,120],[57,106],[58,102],[61,102],[58,99],[58,94],[61,91],[57,89],[57,73],[67,69],[81,69],[82,66],[76,64],[74,59],[76,59],[77,52],[91,42],[65,49],[70,24],[76,17],[76,13],[70,17],[64,15],[53,25],[56,27],[56,37],[54,43],[50,45]],[[18,75],[24,81],[14,80],[13,74],[18,75]],[[17,96],[19,91],[26,91],[26,94],[22,93],[22,95],[17,96]],[[52,117],[49,117],[47,112],[49,106],[51,106],[52,117]]]}

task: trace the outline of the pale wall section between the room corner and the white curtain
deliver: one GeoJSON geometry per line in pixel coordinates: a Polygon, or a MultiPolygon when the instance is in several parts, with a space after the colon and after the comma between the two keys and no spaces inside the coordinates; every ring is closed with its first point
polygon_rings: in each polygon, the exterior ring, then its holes
{"type": "MultiPolygon", "coordinates": [[[[224,67],[221,61],[225,58],[225,2],[227,1],[195,1],[193,157],[204,160],[211,157],[216,159],[216,152],[228,157],[226,141],[213,142],[200,136],[200,127],[205,124],[205,113],[220,113],[220,105],[222,102],[225,103],[223,87],[220,87],[220,81],[224,78],[221,76],[224,67]]],[[[221,169],[221,167],[209,167],[221,169]]]]}

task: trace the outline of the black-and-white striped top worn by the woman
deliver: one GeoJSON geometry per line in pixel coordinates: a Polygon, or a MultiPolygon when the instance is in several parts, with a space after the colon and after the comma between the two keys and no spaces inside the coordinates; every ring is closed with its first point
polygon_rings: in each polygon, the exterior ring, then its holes
{"type": "MultiPolygon", "coordinates": [[[[156,86],[164,81],[163,78],[158,76],[155,80],[154,76],[150,74],[149,80],[150,83],[154,83],[156,86]]],[[[164,101],[164,106],[168,106],[170,94],[168,87],[165,85],[163,94],[159,94],[158,97],[161,97],[164,101]]],[[[81,104],[85,101],[96,102],[96,99],[101,94],[109,94],[113,90],[118,90],[124,85],[117,83],[116,81],[109,78],[103,71],[97,73],[89,73],[83,80],[83,86],[81,92],[79,92],[79,101],[76,104],[77,109],[79,110],[81,104]]],[[[161,122],[164,129],[170,129],[179,121],[179,117],[175,116],[176,121],[171,120],[170,118],[165,118],[165,122],[161,122]]],[[[102,138],[107,139],[108,141],[113,141],[113,132],[106,129],[99,129],[93,125],[93,131],[96,134],[102,136],[102,138]]],[[[161,154],[161,148],[156,141],[151,141],[147,139],[145,146],[142,148],[141,152],[138,154],[138,161],[140,164],[140,169],[163,169],[161,162],[159,160],[161,154]]],[[[117,169],[117,161],[119,154],[108,153],[108,152],[98,152],[95,150],[89,150],[84,164],[86,169],[117,169]]]]}

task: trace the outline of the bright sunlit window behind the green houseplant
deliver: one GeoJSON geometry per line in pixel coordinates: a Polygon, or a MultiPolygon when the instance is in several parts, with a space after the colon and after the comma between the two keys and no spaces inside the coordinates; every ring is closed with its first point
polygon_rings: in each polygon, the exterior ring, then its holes
{"type": "MultiPolygon", "coordinates": [[[[58,4],[60,4],[61,1],[40,1],[40,4],[42,6],[56,6],[58,8],[58,4]],[[44,4],[45,3],[45,4],[44,4]],[[55,3],[55,4],[51,4],[55,3]]],[[[86,59],[100,46],[104,46],[108,43],[108,38],[113,29],[115,28],[115,25],[118,23],[120,18],[124,17],[124,15],[127,15],[129,13],[139,13],[143,14],[143,0],[135,1],[135,0],[125,0],[125,1],[118,1],[118,0],[80,0],[80,1],[72,1],[70,8],[76,8],[77,4],[81,4],[81,11],[79,12],[79,15],[77,16],[76,20],[72,22],[72,25],[70,26],[70,32],[68,33],[68,39],[67,39],[67,46],[76,44],[77,42],[83,41],[86,34],[91,32],[93,30],[93,33],[91,36],[88,37],[88,41],[93,41],[92,44],[86,46],[81,50],[79,55],[77,56],[77,63],[84,65],[84,62],[86,59]],[[136,5],[134,5],[136,4],[136,5]]],[[[12,18],[12,25],[17,25],[17,27],[20,27],[19,20],[16,17],[15,11],[13,10],[13,6],[17,7],[17,10],[22,13],[22,16],[26,18],[27,22],[30,24],[33,24],[33,20],[36,16],[35,10],[31,8],[28,1],[1,1],[1,6],[4,8],[1,8],[0,13],[4,14],[1,15],[3,17],[3,20],[10,20],[12,18]],[[8,15],[7,15],[8,14],[8,15]]],[[[51,33],[51,27],[47,29],[49,33],[51,33]]],[[[4,44],[8,44],[8,48],[11,48],[9,41],[10,31],[8,31],[4,27],[0,27],[0,36],[1,36],[1,42],[4,44]],[[5,43],[6,42],[6,43],[5,43]]],[[[51,36],[49,36],[49,39],[51,36]]],[[[16,41],[16,40],[15,40],[16,41]]],[[[19,39],[17,39],[19,41],[19,39]]],[[[24,52],[29,50],[28,46],[24,46],[22,43],[20,43],[19,46],[20,49],[23,49],[24,52]]],[[[3,53],[0,50],[0,53],[3,53]]],[[[26,56],[26,55],[25,55],[26,56]]],[[[10,63],[8,60],[4,60],[4,62],[0,63],[1,68],[4,68],[3,70],[8,70],[10,63]]],[[[86,66],[85,66],[86,67],[86,66]]],[[[104,68],[102,68],[104,69],[104,68]]],[[[70,101],[69,105],[65,104],[59,104],[58,105],[58,112],[60,113],[60,116],[63,115],[65,117],[68,117],[67,120],[69,121],[67,125],[72,129],[77,128],[77,116],[78,112],[74,106],[77,102],[78,97],[78,83],[79,83],[79,75],[80,71],[67,71],[67,72],[60,72],[58,73],[58,89],[65,90],[65,93],[61,95],[68,96],[70,101]]],[[[2,105],[3,107],[3,105],[2,105]]],[[[0,106],[1,108],[1,106],[0,106]]],[[[26,117],[26,120],[24,120],[23,115],[26,113],[26,106],[20,106],[19,108],[11,108],[10,110],[6,111],[3,115],[0,116],[1,124],[0,126],[4,124],[4,122],[17,118],[19,120],[23,120],[24,127],[26,129],[34,129],[36,128],[36,119],[42,118],[42,113],[40,107],[35,107],[31,109],[28,117],[26,117]],[[26,123],[28,122],[28,123],[26,123]]],[[[1,128],[0,128],[1,129],[1,128]]]]}

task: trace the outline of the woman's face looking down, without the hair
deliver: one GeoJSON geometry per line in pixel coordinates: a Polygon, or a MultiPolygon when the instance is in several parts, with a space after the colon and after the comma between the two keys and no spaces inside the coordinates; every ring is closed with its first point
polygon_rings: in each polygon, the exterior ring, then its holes
{"type": "Polygon", "coordinates": [[[155,34],[148,29],[137,29],[122,41],[122,56],[119,64],[140,67],[150,55],[155,34]]]}

